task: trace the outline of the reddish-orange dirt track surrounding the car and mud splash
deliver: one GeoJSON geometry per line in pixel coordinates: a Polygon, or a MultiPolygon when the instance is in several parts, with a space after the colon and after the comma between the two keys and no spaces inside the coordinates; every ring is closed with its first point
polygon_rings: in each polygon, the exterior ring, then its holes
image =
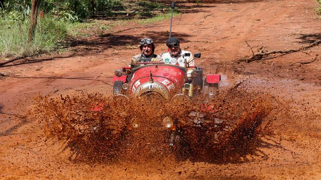
{"type": "Polygon", "coordinates": [[[128,24],[113,32],[79,41],[74,53],[36,60],[13,60],[0,66],[0,179],[321,179],[321,61],[299,65],[321,52],[321,46],[279,58],[235,63],[255,51],[295,49],[321,39],[321,18],[314,0],[181,1],[186,14],[175,17],[173,36],[181,47],[201,52],[196,64],[220,73],[225,85],[250,79],[250,90],[269,92],[283,108],[270,124],[270,133],[241,161],[183,161],[160,164],[86,164],[68,159],[62,142],[46,139],[24,110],[36,94],[111,93],[114,70],[132,55],[143,36],[166,51],[169,20],[141,27],[128,24]],[[77,51],[76,51],[77,50],[77,51]],[[283,111],[282,111],[283,110],[283,111]]]}

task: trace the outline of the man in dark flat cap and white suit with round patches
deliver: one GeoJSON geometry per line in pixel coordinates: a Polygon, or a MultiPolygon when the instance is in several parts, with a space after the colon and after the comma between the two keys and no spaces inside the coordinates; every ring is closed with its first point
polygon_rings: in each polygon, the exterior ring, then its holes
{"type": "MultiPolygon", "coordinates": [[[[161,59],[166,64],[176,64],[185,67],[185,61],[190,65],[194,66],[194,56],[189,51],[184,51],[179,46],[179,40],[176,37],[170,37],[166,40],[166,46],[168,47],[168,52],[161,54],[161,59]]],[[[187,68],[187,77],[190,79],[191,72],[195,68],[187,68]]]]}

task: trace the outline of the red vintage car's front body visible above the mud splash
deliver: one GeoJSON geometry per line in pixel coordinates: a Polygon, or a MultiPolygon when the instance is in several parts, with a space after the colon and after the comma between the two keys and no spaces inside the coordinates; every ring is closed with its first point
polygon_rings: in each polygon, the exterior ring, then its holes
{"type": "MultiPolygon", "coordinates": [[[[201,53],[196,53],[195,58],[200,58],[201,53]]],[[[157,96],[166,101],[175,99],[192,99],[200,94],[212,96],[220,82],[219,74],[207,74],[203,77],[201,67],[179,66],[169,62],[151,62],[142,59],[138,63],[131,63],[130,67],[123,67],[115,71],[113,78],[115,96],[139,97],[157,96]],[[187,69],[195,68],[188,79],[187,69]]]]}

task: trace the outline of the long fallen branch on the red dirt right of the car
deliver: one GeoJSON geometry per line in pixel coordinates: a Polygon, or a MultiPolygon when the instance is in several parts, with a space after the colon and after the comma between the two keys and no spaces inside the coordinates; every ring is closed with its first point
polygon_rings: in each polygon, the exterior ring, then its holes
{"type": "Polygon", "coordinates": [[[298,49],[290,49],[290,50],[284,49],[282,51],[279,51],[279,50],[265,51],[264,47],[263,47],[263,43],[261,43],[261,47],[257,50],[258,53],[254,53],[253,52],[252,47],[247,43],[247,41],[245,41],[245,43],[247,44],[248,47],[250,47],[250,49],[252,50],[253,55],[250,56],[250,57],[243,57],[240,60],[238,60],[238,62],[245,61],[245,62],[248,63],[248,62],[252,62],[254,60],[268,60],[268,59],[277,58],[279,56],[283,56],[283,55],[286,55],[286,54],[295,53],[295,52],[298,52],[298,51],[303,52],[303,51],[305,51],[305,50],[307,50],[309,48],[312,48],[314,46],[317,46],[317,45],[321,44],[321,40],[316,40],[314,43],[310,44],[309,46],[301,46],[298,49]],[[274,56],[271,56],[271,55],[274,55],[274,56]]]}

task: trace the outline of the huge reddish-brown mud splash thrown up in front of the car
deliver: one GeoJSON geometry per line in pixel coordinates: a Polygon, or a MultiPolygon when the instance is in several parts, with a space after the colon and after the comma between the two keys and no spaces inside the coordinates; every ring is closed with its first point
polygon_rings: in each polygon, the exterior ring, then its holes
{"type": "Polygon", "coordinates": [[[40,96],[28,116],[39,121],[46,137],[66,142],[74,161],[215,162],[246,155],[273,118],[274,107],[271,95],[240,88],[175,103],[82,92],[40,96]]]}

